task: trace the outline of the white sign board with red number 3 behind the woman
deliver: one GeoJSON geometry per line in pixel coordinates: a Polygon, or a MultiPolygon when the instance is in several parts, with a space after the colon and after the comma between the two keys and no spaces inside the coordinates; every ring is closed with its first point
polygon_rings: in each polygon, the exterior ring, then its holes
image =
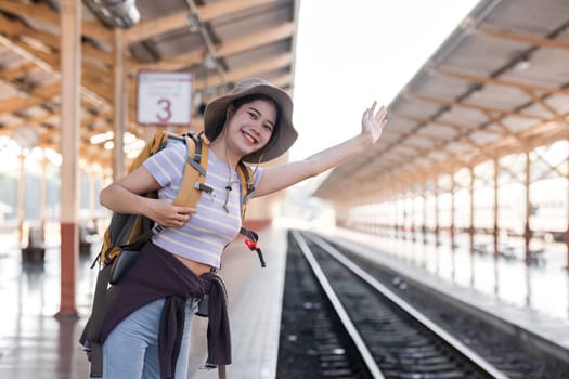
{"type": "Polygon", "coordinates": [[[139,123],[190,125],[192,74],[141,71],[138,83],[139,123]]]}

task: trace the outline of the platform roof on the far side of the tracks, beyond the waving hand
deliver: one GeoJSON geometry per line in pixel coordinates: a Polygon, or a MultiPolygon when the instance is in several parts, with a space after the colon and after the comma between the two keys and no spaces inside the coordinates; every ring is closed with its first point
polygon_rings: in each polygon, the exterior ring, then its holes
{"type": "Polygon", "coordinates": [[[388,106],[380,141],[314,195],[353,206],[569,139],[569,1],[483,0],[388,106]]]}

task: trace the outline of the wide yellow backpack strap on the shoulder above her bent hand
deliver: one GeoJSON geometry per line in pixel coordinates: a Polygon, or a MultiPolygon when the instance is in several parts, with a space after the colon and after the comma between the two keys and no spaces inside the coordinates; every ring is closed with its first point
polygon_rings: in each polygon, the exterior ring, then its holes
{"type": "Polygon", "coordinates": [[[196,136],[193,133],[184,135],[183,139],[187,156],[180,191],[173,204],[195,208],[202,192],[211,192],[211,188],[205,185],[208,144],[202,136],[196,136]]]}

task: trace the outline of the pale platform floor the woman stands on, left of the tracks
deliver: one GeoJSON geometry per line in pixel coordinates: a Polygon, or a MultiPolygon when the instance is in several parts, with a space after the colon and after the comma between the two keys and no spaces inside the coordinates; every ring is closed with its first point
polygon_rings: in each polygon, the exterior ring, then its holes
{"type": "MultiPolygon", "coordinates": [[[[286,234],[277,228],[259,233],[267,267],[243,240],[228,247],[220,275],[225,282],[231,317],[233,364],[228,378],[274,378],[286,260],[286,234]]],[[[86,354],[78,338],[87,321],[96,271],[90,270],[99,251],[80,259],[77,273],[78,319],[59,319],[60,248],[48,239],[43,264],[22,264],[15,234],[0,235],[0,378],[88,378],[86,354]]],[[[207,321],[195,317],[189,379],[218,378],[216,370],[198,369],[206,361],[207,321]]]]}

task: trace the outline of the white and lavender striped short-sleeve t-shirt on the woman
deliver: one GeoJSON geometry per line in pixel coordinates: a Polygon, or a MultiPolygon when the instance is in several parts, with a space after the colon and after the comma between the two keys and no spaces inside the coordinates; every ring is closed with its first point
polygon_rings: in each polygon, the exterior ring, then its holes
{"type": "MultiPolygon", "coordinates": [[[[161,186],[159,198],[176,199],[186,157],[183,143],[169,142],[166,148],[144,161],[144,167],[161,186]]],[[[262,169],[256,171],[255,185],[259,183],[261,172],[262,169]]],[[[234,167],[231,167],[231,180],[229,178],[228,165],[209,149],[206,184],[214,192],[210,195],[202,193],[197,211],[183,226],[166,227],[153,236],[153,243],[174,254],[219,269],[223,248],[237,236],[242,222],[241,184],[234,167]],[[231,182],[232,187],[229,192],[229,213],[223,209],[228,182],[231,182]]]]}

